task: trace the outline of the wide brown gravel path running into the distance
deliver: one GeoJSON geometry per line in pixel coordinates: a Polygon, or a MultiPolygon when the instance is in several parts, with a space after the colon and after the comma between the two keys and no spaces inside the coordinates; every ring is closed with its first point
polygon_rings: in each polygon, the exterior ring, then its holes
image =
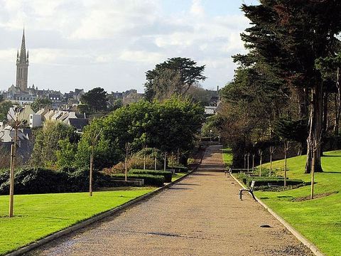
{"type": "Polygon", "coordinates": [[[211,146],[180,183],[30,255],[312,255],[222,171],[211,146]]]}

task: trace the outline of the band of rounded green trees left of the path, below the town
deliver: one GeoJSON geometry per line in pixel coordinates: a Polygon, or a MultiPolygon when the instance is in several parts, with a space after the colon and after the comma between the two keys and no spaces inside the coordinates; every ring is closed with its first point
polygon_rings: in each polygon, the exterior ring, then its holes
{"type": "Polygon", "coordinates": [[[31,165],[53,169],[89,166],[91,138],[98,127],[102,132],[94,146],[96,169],[111,168],[124,161],[125,146],[130,153],[146,146],[162,154],[180,152],[187,164],[203,122],[202,107],[189,97],[173,96],[163,102],[142,100],[93,119],[82,136],[72,127],[50,122],[35,133],[31,165]]]}

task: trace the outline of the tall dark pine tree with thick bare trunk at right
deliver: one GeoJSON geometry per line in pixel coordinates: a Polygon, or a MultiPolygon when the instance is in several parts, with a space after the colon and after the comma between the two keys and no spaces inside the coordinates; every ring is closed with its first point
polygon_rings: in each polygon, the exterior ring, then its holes
{"type": "Polygon", "coordinates": [[[322,171],[325,87],[315,61],[335,51],[336,36],[341,31],[341,2],[261,0],[257,6],[243,5],[242,10],[251,21],[251,28],[242,34],[250,51],[235,58],[243,65],[271,65],[278,78],[298,92],[301,117],[308,114],[309,119],[305,172],[309,173],[312,166],[322,171]]]}

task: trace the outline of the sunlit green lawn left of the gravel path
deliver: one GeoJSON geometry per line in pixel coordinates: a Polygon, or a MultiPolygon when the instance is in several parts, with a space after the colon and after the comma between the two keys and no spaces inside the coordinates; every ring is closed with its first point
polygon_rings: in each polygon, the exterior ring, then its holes
{"type": "Polygon", "coordinates": [[[9,196],[0,196],[0,255],[120,206],[155,188],[88,193],[19,195],[14,217],[7,218],[9,196]]]}

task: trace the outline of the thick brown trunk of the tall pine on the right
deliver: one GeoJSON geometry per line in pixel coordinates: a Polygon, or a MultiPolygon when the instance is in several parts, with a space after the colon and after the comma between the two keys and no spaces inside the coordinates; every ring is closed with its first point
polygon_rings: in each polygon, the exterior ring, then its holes
{"type": "Polygon", "coordinates": [[[315,172],[322,172],[321,166],[321,137],[323,128],[323,86],[317,83],[311,89],[310,117],[309,117],[309,135],[307,139],[307,160],[305,162],[305,174],[310,174],[312,164],[315,166],[315,172]],[[316,157],[313,157],[313,151],[316,150],[316,157]]]}

